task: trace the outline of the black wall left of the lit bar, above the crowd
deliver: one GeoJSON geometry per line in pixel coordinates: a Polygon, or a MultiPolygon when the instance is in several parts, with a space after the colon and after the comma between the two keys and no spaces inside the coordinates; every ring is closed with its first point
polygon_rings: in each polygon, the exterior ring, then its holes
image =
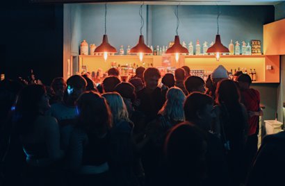
{"type": "Polygon", "coordinates": [[[63,76],[63,5],[5,1],[0,17],[1,74],[26,78],[33,69],[45,84],[63,76]]]}

